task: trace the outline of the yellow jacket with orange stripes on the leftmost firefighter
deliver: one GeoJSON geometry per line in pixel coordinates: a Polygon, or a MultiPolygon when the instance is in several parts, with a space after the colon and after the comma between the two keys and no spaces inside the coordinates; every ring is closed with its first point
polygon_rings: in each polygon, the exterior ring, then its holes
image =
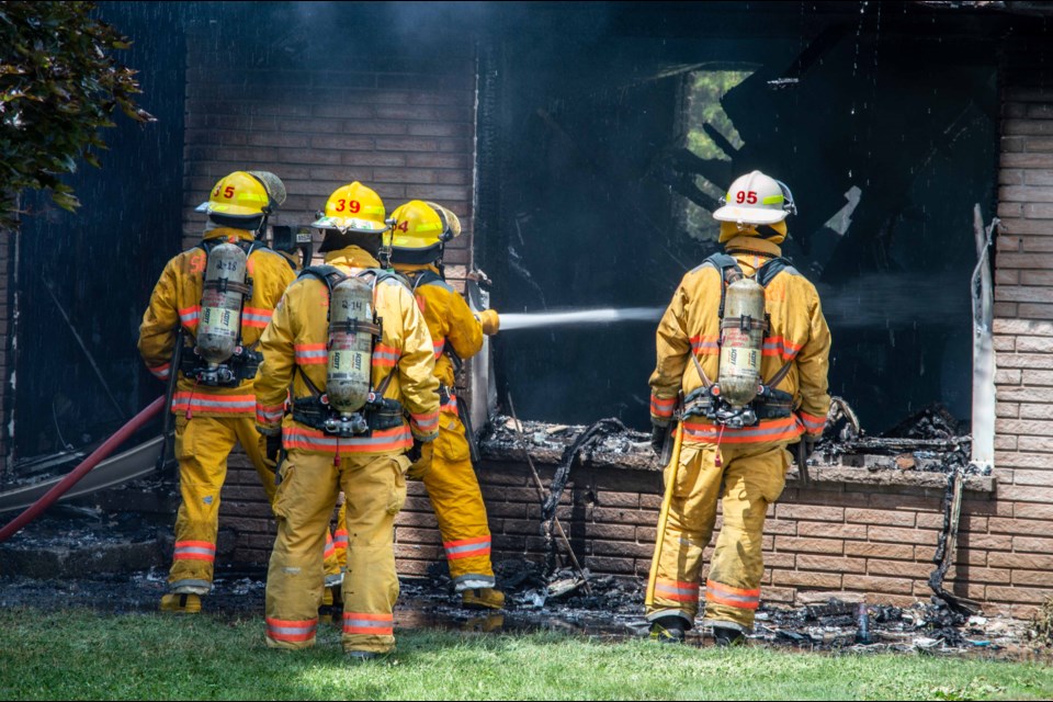
{"type": "MultiPolygon", "coordinates": [[[[244,229],[219,227],[205,234],[206,241],[225,239],[251,241],[252,234],[244,229]]],[[[182,325],[184,343],[193,347],[201,316],[201,292],[205,278],[206,253],[194,247],[172,258],[165,267],[150,304],[139,325],[139,353],[147,369],[166,381],[172,373],[172,351],[176,331],[182,325]]],[[[260,339],[271,313],[281,299],[295,273],[280,254],[268,248],[252,251],[248,258],[248,276],[252,279],[252,296],[245,301],[241,314],[241,343],[251,347],[260,339]]],[[[173,412],[190,412],[203,417],[251,417],[254,412],[252,381],[235,387],[210,387],[179,375],[173,412]]]]}

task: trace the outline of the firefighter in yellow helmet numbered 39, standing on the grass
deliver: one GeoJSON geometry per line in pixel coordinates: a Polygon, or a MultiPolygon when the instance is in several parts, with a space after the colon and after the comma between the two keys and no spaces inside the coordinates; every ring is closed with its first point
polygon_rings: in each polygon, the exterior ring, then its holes
{"type": "Polygon", "coordinates": [[[412,293],[375,258],[387,228],[380,196],[358,182],[343,185],[322,214],[313,226],[325,231],[326,265],[305,269],[274,310],[256,384],[258,427],[281,432],[287,452],[274,502],[265,641],[314,645],[326,528],[343,490],[342,644],[365,660],[395,646],[394,519],[406,499],[407,451],[439,434],[439,382],[412,293]]]}

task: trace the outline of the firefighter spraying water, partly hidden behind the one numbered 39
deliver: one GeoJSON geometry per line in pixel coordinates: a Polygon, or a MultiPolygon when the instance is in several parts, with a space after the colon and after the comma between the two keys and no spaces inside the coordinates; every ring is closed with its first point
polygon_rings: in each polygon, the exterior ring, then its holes
{"type": "Polygon", "coordinates": [[[462,603],[471,609],[499,610],[505,595],[494,587],[486,506],[453,384],[461,362],[478,353],[483,335],[497,333],[500,319],[492,309],[474,314],[444,280],[444,245],[461,234],[456,215],[441,205],[415,200],[398,207],[388,222],[392,265],[410,281],[428,322],[439,378],[439,439],[423,446],[409,476],[423,480],[431,498],[450,577],[462,603]]]}

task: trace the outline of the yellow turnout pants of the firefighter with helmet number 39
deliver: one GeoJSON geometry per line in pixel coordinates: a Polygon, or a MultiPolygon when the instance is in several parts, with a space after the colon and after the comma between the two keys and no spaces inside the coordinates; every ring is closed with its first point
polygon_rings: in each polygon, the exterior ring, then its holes
{"type": "Polygon", "coordinates": [[[392,611],[398,598],[395,514],[406,501],[403,455],[306,453],[292,449],[280,471],[274,516],[278,536],[267,574],[267,644],[307,648],[315,643],[324,589],[329,519],[343,490],[348,565],[343,578],[344,650],[395,647],[392,611]]]}

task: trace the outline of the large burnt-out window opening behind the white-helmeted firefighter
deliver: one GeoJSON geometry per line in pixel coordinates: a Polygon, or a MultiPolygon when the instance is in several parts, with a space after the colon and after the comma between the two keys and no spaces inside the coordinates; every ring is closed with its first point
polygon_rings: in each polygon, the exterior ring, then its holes
{"type": "MultiPolygon", "coordinates": [[[[871,435],[937,404],[967,433],[973,208],[986,220],[994,210],[995,53],[865,27],[814,37],[728,39],[712,53],[643,38],[509,52],[501,231],[476,245],[497,274],[495,304],[666,306],[717,249],[707,218],[723,190],[759,169],[801,211],[784,253],[823,298],[830,393],[871,435]],[[647,68],[609,68],[634,57],[647,68]],[[567,79],[566,65],[584,76],[567,79]]],[[[644,429],[655,326],[501,335],[499,398],[521,418],[644,429]]]]}

